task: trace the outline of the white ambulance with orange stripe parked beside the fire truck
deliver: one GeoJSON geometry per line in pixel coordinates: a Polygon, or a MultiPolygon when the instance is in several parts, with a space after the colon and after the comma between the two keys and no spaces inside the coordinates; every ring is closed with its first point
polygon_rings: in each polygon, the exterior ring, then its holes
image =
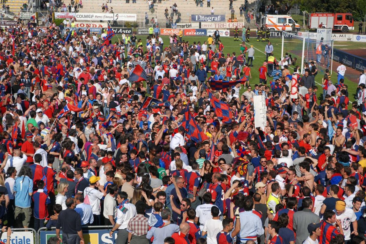
{"type": "Polygon", "coordinates": [[[295,30],[300,31],[301,26],[290,15],[265,15],[264,19],[264,24],[270,31],[281,31],[283,26],[285,31],[292,31],[292,23],[295,23],[295,30]]]}

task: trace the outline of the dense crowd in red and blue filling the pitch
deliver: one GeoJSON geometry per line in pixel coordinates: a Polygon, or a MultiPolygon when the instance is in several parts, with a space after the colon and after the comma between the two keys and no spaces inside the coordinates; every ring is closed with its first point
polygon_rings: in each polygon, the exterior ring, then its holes
{"type": "Polygon", "coordinates": [[[365,243],[365,85],[349,104],[339,76],[319,100],[314,62],[290,72],[270,42],[253,68],[253,46],[225,57],[223,38],[0,32],[0,226],[56,227],[49,243],[83,244],[89,225],[118,244],[365,243]]]}

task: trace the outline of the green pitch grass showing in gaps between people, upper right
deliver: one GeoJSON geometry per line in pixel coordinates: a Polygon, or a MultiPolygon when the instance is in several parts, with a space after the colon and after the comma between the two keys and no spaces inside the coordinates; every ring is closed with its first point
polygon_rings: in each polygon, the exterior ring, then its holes
{"type": "MultiPolygon", "coordinates": [[[[137,36],[137,38],[141,38],[143,40],[143,43],[146,40],[146,36],[137,36]]],[[[193,43],[194,41],[197,43],[198,41],[201,41],[201,43],[203,43],[203,41],[207,41],[208,37],[202,37],[202,36],[197,36],[197,37],[183,37],[184,41],[189,41],[190,43],[193,43]]],[[[236,52],[236,54],[238,55],[240,53],[240,46],[239,44],[241,44],[241,41],[234,41],[233,37],[221,37],[220,40],[223,42],[224,44],[224,53],[225,53],[225,57],[227,53],[230,53],[230,55],[232,54],[232,52],[236,52]]],[[[112,38],[112,42],[117,41],[117,37],[113,37],[112,38]]],[[[164,41],[164,47],[166,47],[169,44],[169,38],[168,36],[163,36],[163,41],[164,41]]],[[[272,42],[274,51],[273,54],[275,55],[275,57],[277,59],[280,59],[281,56],[281,39],[280,38],[272,38],[270,40],[272,42]]],[[[287,40],[287,42],[284,45],[284,53],[287,52],[287,48],[290,46],[291,40],[287,40]],[[286,45],[288,44],[288,45],[286,45]],[[287,47],[286,47],[287,46],[287,47]]],[[[348,43],[348,42],[342,42],[344,44],[348,43]]],[[[255,40],[254,37],[250,38],[250,42],[247,42],[246,45],[248,47],[250,47],[250,45],[253,45],[255,48],[255,54],[254,54],[254,61],[253,61],[253,65],[254,67],[251,68],[251,76],[252,78],[249,80],[251,85],[254,84],[259,84],[259,72],[258,72],[258,68],[263,64],[263,62],[265,61],[265,45],[267,44],[267,42],[257,42],[255,40]]],[[[291,49],[294,49],[294,45],[291,45],[291,49]]],[[[145,49],[144,49],[145,50],[145,49]]],[[[294,57],[294,55],[292,55],[292,57],[294,57]]],[[[301,57],[297,57],[298,61],[297,64],[300,65],[301,64],[301,57]]],[[[333,64],[334,65],[334,64],[333,64]]],[[[293,68],[293,67],[292,67],[293,68]]],[[[292,72],[292,68],[290,68],[290,71],[292,72]]],[[[316,77],[315,77],[315,83],[318,86],[318,97],[320,98],[320,94],[322,94],[322,87],[321,87],[321,82],[322,82],[322,76],[323,74],[319,73],[316,77]]],[[[337,80],[337,74],[336,72],[333,72],[332,74],[332,80],[337,80]]],[[[350,100],[353,101],[353,95],[356,92],[356,88],[357,88],[357,83],[352,82],[351,80],[345,78],[345,84],[348,85],[348,92],[350,94],[350,100]]],[[[242,88],[241,90],[242,92],[244,92],[244,88],[242,88]]]]}

